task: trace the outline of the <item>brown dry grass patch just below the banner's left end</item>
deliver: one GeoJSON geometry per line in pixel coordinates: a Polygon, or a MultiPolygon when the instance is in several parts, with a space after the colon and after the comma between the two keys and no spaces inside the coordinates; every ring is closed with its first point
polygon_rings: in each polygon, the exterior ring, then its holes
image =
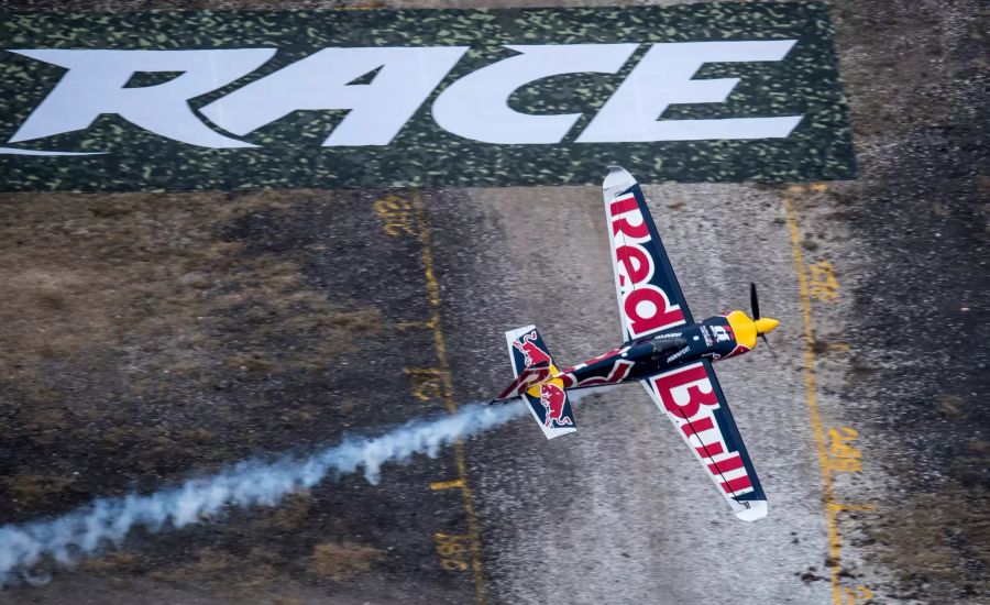
{"type": "MultiPolygon", "coordinates": [[[[308,289],[299,266],[246,255],[221,229],[252,212],[287,211],[306,191],[227,199],[195,195],[18,195],[0,206],[0,367],[14,376],[107,355],[156,358],[155,370],[201,371],[202,352],[231,345],[229,364],[315,370],[375,330],[373,310],[341,311],[308,289]],[[240,332],[248,327],[248,338],[240,332]],[[273,339],[309,336],[278,359],[273,339]],[[319,337],[319,338],[316,338],[319,337]],[[219,342],[218,342],[219,338],[219,342]],[[240,350],[237,350],[237,349],[240,350]]],[[[239,365],[239,367],[240,367],[239,365]]]]}

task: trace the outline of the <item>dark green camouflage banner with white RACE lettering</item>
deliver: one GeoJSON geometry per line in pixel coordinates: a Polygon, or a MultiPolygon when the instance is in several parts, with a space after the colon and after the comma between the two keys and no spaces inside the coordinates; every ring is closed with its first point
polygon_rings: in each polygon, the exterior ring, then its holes
{"type": "Polygon", "coordinates": [[[828,9],[9,13],[0,188],[855,177],[828,9]]]}

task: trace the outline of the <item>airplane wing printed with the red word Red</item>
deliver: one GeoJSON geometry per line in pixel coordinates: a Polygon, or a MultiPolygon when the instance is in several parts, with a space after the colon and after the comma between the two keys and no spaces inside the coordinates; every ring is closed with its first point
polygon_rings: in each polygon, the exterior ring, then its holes
{"type": "Polygon", "coordinates": [[[625,169],[609,166],[602,188],[626,340],[692,322],[639,184],[625,169]]]}

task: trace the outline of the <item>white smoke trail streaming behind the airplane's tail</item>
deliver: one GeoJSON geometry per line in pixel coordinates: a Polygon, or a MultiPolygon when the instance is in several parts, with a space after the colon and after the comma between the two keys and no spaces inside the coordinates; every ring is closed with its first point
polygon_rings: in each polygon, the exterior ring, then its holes
{"type": "Polygon", "coordinates": [[[0,586],[19,575],[30,580],[31,568],[42,560],[67,564],[109,543],[120,544],[135,526],[158,531],[199,522],[226,506],[272,506],[328,474],[345,475],[359,468],[369,482],[377,483],[386,462],[408,462],[417,453],[436,458],[442,447],[522,414],[521,404],[471,404],[454,415],[414,420],[378,437],[349,438],[305,459],[242,462],[155,494],[99,498],[52,520],[7,525],[0,528],[0,586]]]}

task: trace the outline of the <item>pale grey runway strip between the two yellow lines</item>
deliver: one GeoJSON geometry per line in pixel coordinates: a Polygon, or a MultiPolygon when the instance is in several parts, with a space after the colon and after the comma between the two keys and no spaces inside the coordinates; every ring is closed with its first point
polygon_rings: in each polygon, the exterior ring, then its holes
{"type": "MultiPolygon", "coordinates": [[[[542,443],[535,427],[520,422],[470,449],[480,516],[499,519],[485,527],[496,601],[721,602],[760,576],[766,581],[747,588],[752,602],[827,603],[827,583],[799,579],[809,565],[824,565],[827,537],[780,191],[664,185],[646,194],[695,317],[748,307],[755,279],[763,312],[783,323],[772,334],[776,358],[758,348],[716,365],[763,477],[770,518],[738,521],[653,403],[637,385],[624,385],[579,404],[575,436],[542,443]],[[726,244],[740,232],[751,237],[726,244]]],[[[438,245],[438,258],[458,274],[470,279],[474,272],[464,268],[474,266],[486,275],[491,294],[482,297],[508,302],[479,305],[468,284],[449,288],[450,340],[474,343],[468,351],[454,345],[455,375],[504,382],[507,364],[490,361],[504,356],[504,346],[487,334],[529,321],[564,364],[622,340],[600,190],[472,190],[430,202],[435,212],[449,204],[448,216],[460,215],[461,226],[466,219],[499,228],[451,241],[449,254],[438,245]],[[463,210],[465,202],[474,208],[463,210]],[[485,371],[469,372],[479,366],[485,371]]],[[[435,224],[441,233],[455,227],[435,224]]],[[[464,386],[483,393],[477,382],[464,386]]]]}

